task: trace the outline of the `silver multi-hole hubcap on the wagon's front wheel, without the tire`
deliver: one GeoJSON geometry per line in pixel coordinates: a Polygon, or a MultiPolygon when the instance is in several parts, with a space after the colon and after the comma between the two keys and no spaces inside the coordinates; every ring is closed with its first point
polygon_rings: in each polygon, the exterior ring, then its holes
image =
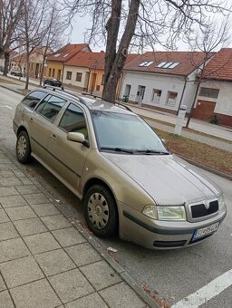
{"type": "Polygon", "coordinates": [[[89,198],[88,216],[92,225],[101,230],[109,220],[109,206],[106,199],[100,193],[94,193],[89,198]]]}

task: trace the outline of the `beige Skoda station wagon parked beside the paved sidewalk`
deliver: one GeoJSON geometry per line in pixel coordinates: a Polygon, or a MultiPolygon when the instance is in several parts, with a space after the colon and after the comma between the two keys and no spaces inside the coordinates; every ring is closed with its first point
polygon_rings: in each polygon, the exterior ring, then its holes
{"type": "Polygon", "coordinates": [[[16,106],[13,127],[19,162],[37,159],[73,191],[96,236],[186,247],[227,215],[222,190],[123,104],[35,89],[16,106]]]}

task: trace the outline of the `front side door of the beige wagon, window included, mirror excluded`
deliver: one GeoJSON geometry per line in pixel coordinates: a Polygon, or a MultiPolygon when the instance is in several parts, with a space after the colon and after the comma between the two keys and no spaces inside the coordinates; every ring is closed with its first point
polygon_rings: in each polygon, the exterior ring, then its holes
{"type": "Polygon", "coordinates": [[[71,131],[82,132],[88,140],[84,111],[74,103],[68,105],[58,126],[53,127],[51,142],[48,143],[48,164],[62,177],[65,185],[79,192],[82,169],[91,149],[68,140],[67,134],[71,131]]]}

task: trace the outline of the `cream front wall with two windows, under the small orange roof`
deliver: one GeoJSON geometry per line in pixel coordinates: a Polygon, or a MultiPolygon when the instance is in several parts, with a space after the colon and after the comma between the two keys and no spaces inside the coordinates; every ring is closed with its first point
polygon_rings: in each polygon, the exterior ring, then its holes
{"type": "Polygon", "coordinates": [[[64,71],[63,71],[63,83],[64,84],[71,85],[71,86],[73,86],[76,89],[79,89],[81,91],[86,91],[87,88],[88,88],[89,76],[90,76],[90,70],[87,67],[64,65],[64,71]],[[67,72],[72,72],[71,80],[66,79],[67,72]],[[82,81],[81,82],[76,81],[76,73],[77,72],[82,73],[82,81]]]}

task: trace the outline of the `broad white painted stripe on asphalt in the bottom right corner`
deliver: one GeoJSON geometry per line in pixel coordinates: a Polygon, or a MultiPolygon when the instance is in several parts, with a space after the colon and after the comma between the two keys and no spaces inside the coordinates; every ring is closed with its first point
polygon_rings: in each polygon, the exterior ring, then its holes
{"type": "Polygon", "coordinates": [[[222,274],[203,286],[197,292],[190,294],[178,303],[174,303],[171,308],[198,308],[201,304],[207,303],[211,298],[220,294],[232,284],[232,270],[222,274]]]}

